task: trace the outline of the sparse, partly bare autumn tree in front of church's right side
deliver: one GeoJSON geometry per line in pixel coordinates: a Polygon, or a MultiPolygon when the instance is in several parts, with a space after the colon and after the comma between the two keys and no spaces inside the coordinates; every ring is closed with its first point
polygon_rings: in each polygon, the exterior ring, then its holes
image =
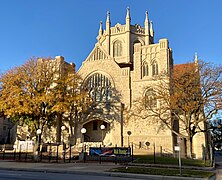
{"type": "Polygon", "coordinates": [[[155,119],[188,142],[192,157],[193,137],[206,132],[207,122],[221,110],[222,67],[200,61],[174,67],[172,76],[160,75],[152,93],[138,99],[131,113],[155,119]],[[220,106],[220,107],[219,107],[220,106]]]}

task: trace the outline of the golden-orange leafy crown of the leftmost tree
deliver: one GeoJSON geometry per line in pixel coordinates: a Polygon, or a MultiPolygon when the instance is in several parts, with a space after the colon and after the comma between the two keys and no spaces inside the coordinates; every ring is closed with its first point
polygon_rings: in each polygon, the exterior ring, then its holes
{"type": "Polygon", "coordinates": [[[31,59],[1,76],[1,109],[10,119],[26,124],[35,135],[37,129],[53,121],[54,73],[44,63],[31,59]]]}

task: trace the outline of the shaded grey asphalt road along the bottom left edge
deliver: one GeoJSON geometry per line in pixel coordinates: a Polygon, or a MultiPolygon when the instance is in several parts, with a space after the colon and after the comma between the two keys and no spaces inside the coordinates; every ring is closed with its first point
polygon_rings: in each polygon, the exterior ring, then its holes
{"type": "MultiPolygon", "coordinates": [[[[7,171],[0,170],[0,180],[127,180],[129,178],[109,177],[109,176],[93,176],[93,175],[78,175],[78,174],[62,174],[62,173],[44,173],[44,172],[27,172],[27,171],[7,171]]],[[[133,178],[130,178],[133,179],[133,178]]],[[[134,179],[138,180],[138,179],[134,179]]]]}

